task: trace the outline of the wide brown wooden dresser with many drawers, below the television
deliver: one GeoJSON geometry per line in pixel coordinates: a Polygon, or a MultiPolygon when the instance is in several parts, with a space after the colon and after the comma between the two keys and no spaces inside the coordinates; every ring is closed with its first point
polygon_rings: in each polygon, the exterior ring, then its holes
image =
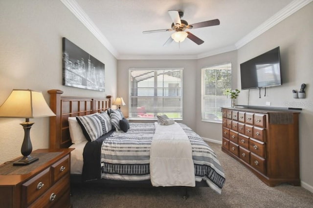
{"type": "Polygon", "coordinates": [[[268,186],[300,186],[299,112],[222,108],[222,151],[268,186]]]}

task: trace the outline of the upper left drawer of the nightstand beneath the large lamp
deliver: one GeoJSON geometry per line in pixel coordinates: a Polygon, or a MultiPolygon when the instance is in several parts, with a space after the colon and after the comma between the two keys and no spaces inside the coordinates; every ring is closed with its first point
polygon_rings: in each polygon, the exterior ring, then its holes
{"type": "Polygon", "coordinates": [[[35,199],[51,187],[51,184],[50,168],[46,168],[32,179],[22,184],[23,206],[27,207],[35,201],[35,199]]]}

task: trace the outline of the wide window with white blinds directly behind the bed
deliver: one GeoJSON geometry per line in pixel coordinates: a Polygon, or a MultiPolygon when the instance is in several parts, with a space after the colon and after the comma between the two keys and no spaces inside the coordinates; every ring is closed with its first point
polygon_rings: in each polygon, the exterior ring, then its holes
{"type": "Polygon", "coordinates": [[[129,69],[129,117],[182,119],[182,69],[129,69]]]}

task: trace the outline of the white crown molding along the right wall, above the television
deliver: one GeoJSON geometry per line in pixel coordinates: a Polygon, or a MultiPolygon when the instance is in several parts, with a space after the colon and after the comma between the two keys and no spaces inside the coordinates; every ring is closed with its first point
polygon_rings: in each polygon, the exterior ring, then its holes
{"type": "Polygon", "coordinates": [[[313,0],[293,0],[290,4],[286,7],[281,9],[267,21],[260,24],[257,28],[252,30],[248,33],[244,38],[239,40],[235,43],[237,49],[241,48],[242,46],[246,45],[246,43],[252,41],[256,37],[260,36],[262,33],[273,27],[274,25],[278,24],[279,22],[285,20],[293,13],[301,9],[302,7],[306,6],[307,4],[311,3],[313,0]]]}

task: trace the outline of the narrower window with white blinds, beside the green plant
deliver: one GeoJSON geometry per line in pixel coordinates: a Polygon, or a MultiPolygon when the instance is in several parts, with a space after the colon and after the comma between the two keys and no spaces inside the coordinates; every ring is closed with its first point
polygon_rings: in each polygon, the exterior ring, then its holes
{"type": "Polygon", "coordinates": [[[222,123],[221,107],[231,106],[231,63],[201,69],[202,121],[222,123]]]}

